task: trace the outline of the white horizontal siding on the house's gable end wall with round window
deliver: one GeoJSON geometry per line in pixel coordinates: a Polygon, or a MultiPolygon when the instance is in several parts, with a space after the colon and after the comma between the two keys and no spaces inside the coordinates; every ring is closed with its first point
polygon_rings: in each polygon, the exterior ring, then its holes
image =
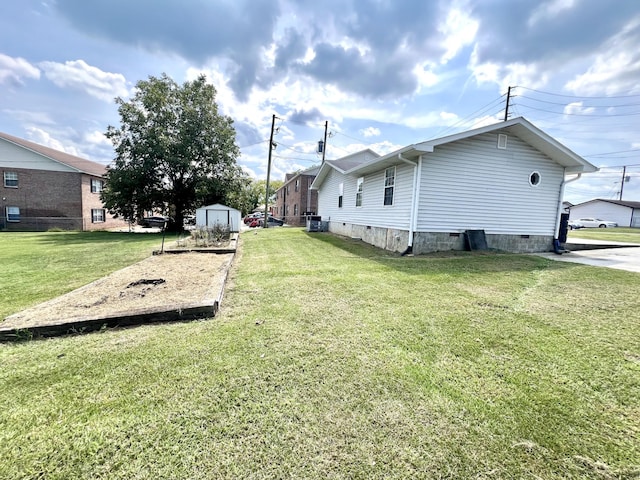
{"type": "Polygon", "coordinates": [[[424,157],[418,231],[553,235],[561,166],[509,135],[496,148],[496,133],[436,147],[424,157]],[[530,184],[538,172],[541,181],[530,184]]]}

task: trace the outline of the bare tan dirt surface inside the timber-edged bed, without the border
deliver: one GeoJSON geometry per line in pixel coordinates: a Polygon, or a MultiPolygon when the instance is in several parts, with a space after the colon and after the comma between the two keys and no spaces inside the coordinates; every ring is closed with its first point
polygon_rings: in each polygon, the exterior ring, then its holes
{"type": "Polygon", "coordinates": [[[24,329],[216,301],[224,288],[232,253],[154,255],[84,287],[18,312],[0,328],[24,329]]]}

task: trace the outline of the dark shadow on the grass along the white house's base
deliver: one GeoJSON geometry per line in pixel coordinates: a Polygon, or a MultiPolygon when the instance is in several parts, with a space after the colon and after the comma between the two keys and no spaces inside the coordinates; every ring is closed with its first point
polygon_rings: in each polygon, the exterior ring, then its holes
{"type": "Polygon", "coordinates": [[[351,255],[384,264],[407,274],[421,275],[425,270],[432,273],[465,274],[489,272],[524,272],[532,270],[567,270],[579,264],[556,262],[536,255],[516,254],[501,251],[461,251],[426,253],[402,256],[375,247],[362,240],[342,237],[329,232],[309,233],[312,241],[329,244],[351,255]]]}

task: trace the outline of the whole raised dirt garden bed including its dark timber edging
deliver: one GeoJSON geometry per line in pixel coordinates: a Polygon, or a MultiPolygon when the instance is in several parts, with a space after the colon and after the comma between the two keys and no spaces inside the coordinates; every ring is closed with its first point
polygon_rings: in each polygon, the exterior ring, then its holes
{"type": "Polygon", "coordinates": [[[0,340],[213,317],[234,253],[163,253],[0,322],[0,340]]]}

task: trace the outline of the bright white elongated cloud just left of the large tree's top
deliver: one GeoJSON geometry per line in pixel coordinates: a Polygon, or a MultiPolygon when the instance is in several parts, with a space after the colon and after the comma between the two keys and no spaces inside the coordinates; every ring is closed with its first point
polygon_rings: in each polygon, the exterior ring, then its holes
{"type": "Polygon", "coordinates": [[[106,102],[129,95],[124,75],[104,72],[88,65],[84,60],[41,62],[39,65],[47,78],[60,88],[84,91],[106,102]]]}

